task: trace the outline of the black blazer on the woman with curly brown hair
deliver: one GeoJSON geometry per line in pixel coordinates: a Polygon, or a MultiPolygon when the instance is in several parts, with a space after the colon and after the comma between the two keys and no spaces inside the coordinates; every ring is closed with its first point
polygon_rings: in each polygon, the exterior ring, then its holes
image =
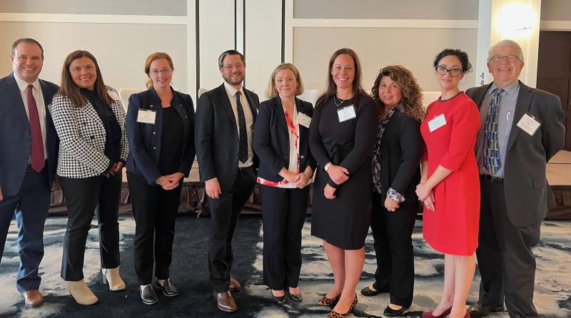
{"type": "Polygon", "coordinates": [[[403,195],[405,202],[418,202],[415,190],[420,183],[422,147],[420,122],[396,110],[380,141],[380,187],[383,202],[389,188],[403,195]]]}

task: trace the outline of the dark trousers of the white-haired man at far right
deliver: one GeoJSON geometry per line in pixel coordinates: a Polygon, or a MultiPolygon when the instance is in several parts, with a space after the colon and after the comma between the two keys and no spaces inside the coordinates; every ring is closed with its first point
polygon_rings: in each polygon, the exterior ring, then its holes
{"type": "MultiPolygon", "coordinates": [[[[512,225],[505,207],[504,184],[480,180],[480,232],[476,250],[480,268],[480,302],[500,307],[510,317],[537,317],[533,305],[535,255],[541,223],[512,225]]],[[[533,207],[530,207],[533,208],[533,207]]]]}

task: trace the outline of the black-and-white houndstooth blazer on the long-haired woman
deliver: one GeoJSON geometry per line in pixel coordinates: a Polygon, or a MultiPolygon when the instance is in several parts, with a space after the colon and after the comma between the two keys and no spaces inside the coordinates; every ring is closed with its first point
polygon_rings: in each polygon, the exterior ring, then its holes
{"type": "MultiPolygon", "coordinates": [[[[113,98],[111,109],[121,127],[121,160],[128,155],[125,110],[114,88],[106,86],[113,98]]],[[[65,178],[89,178],[102,175],[111,165],[104,154],[105,127],[94,106],[76,107],[66,96],[56,94],[49,105],[60,139],[57,175],[65,178]]]]}

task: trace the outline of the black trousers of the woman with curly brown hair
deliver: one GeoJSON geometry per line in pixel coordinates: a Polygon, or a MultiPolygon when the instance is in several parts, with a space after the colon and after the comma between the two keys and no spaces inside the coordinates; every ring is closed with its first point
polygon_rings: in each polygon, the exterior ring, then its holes
{"type": "Polygon", "coordinates": [[[418,202],[400,203],[395,212],[385,209],[379,193],[373,191],[370,228],[375,240],[377,270],[373,287],[389,292],[390,302],[403,307],[413,303],[415,266],[413,230],[418,202]]]}

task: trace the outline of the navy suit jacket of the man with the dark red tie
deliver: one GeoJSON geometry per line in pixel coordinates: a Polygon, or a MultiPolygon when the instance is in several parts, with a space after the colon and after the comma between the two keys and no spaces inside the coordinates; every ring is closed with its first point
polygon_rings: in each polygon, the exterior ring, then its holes
{"type": "MultiPolygon", "coordinates": [[[[59,86],[44,80],[39,82],[46,106],[46,147],[49,156],[46,190],[51,190],[58,163],[59,139],[48,105],[59,86]]],[[[0,186],[3,195],[19,193],[30,155],[30,122],[14,73],[10,73],[0,78],[0,186]]]]}

